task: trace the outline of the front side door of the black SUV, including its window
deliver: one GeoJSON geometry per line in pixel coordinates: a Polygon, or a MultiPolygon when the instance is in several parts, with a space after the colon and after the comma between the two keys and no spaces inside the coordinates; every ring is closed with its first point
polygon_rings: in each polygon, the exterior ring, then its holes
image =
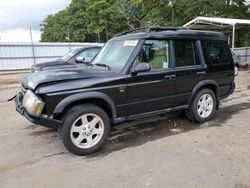
{"type": "Polygon", "coordinates": [[[149,63],[151,70],[128,78],[128,115],[173,107],[175,71],[168,40],[145,40],[135,60],[149,63]]]}

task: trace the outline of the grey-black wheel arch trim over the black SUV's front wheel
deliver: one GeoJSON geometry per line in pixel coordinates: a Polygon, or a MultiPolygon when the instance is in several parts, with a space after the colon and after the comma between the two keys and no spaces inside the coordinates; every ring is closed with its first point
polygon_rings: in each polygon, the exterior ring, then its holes
{"type": "Polygon", "coordinates": [[[62,114],[71,106],[80,104],[80,103],[91,103],[101,107],[104,111],[107,112],[109,117],[116,117],[117,112],[115,108],[114,101],[104,93],[101,92],[85,92],[77,93],[70,95],[60,101],[55,107],[53,114],[62,114]]]}

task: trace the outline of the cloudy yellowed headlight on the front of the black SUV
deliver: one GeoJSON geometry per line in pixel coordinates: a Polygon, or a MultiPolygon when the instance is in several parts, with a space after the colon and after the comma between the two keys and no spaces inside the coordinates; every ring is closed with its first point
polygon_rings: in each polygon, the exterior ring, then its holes
{"type": "Polygon", "coordinates": [[[36,117],[41,116],[44,102],[40,100],[31,90],[27,90],[25,92],[22,104],[29,114],[36,117]]]}

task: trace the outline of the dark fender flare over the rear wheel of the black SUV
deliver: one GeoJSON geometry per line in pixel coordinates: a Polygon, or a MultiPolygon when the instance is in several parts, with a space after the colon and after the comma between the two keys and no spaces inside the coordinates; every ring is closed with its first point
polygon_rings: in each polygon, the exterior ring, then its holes
{"type": "Polygon", "coordinates": [[[215,96],[216,96],[217,101],[219,101],[219,85],[218,85],[218,83],[215,82],[214,80],[202,80],[198,84],[196,84],[195,87],[193,88],[192,94],[191,94],[191,96],[190,96],[190,98],[188,100],[188,104],[191,103],[191,101],[192,101],[193,97],[196,95],[197,91],[200,88],[202,88],[203,86],[206,86],[206,85],[213,85],[213,86],[215,86],[215,88],[216,88],[216,94],[215,94],[215,96]]]}

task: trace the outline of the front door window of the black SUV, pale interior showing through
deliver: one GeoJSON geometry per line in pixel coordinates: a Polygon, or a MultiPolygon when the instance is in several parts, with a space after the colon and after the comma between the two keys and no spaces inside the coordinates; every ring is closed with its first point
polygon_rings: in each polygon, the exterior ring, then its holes
{"type": "Polygon", "coordinates": [[[146,40],[137,55],[136,63],[149,63],[151,70],[169,68],[169,42],[166,40],[146,40]]]}

